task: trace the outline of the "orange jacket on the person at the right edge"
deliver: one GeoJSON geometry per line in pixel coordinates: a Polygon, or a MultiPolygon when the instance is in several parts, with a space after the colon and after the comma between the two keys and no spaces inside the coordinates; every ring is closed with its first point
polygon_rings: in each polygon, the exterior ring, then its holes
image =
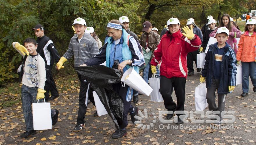
{"type": "Polygon", "coordinates": [[[255,61],[256,53],[256,32],[249,36],[249,31],[246,31],[240,37],[237,51],[237,61],[253,62],[255,61]]]}

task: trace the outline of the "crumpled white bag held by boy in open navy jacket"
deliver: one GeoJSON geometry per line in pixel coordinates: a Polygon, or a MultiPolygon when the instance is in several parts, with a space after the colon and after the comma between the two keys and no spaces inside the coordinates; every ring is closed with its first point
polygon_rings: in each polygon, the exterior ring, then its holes
{"type": "Polygon", "coordinates": [[[195,110],[203,111],[207,106],[206,99],[207,88],[206,84],[199,84],[195,87],[195,110]]]}

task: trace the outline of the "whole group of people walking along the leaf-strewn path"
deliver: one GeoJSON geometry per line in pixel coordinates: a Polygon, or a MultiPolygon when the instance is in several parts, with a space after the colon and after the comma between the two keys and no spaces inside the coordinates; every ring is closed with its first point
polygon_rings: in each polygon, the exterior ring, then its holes
{"type": "MultiPolygon", "coordinates": [[[[198,28],[192,18],[188,19],[187,26],[181,30],[179,19],[172,17],[162,30],[162,32],[166,32],[161,36],[158,34],[157,28],[153,28],[149,21],[145,21],[142,24],[144,33],[138,38],[129,29],[128,17],[122,16],[119,20],[109,21],[106,26],[108,36],[102,46],[102,42],[95,34],[93,27],[87,27],[86,21],[79,17],[72,24],[75,35],[70,39],[68,49],[62,57],[58,55],[53,42],[44,35],[45,28],[38,24],[32,29],[38,37],[37,42],[31,38],[24,41],[24,46],[13,42],[13,47],[26,59],[24,74],[22,75],[22,104],[26,132],[21,137],[25,138],[35,134],[33,127],[31,127],[33,126],[31,103],[36,102],[37,99],[42,102],[43,98],[52,100],[59,96],[51,75],[54,62],[56,62],[56,68],[59,70],[64,68],[65,61],[73,56],[75,67],[99,65],[106,61],[106,66],[112,68],[114,62],[119,60],[120,64],[117,67],[120,71],[125,72],[133,65],[134,70],[139,73],[139,67],[145,66],[143,79],[146,82],[148,82],[151,72],[160,77],[159,91],[163,97],[165,108],[171,111],[184,110],[186,78],[188,75],[194,75],[193,61],[196,63],[196,55],[200,51],[205,51],[209,37],[216,37],[217,43],[209,46],[205,57],[205,66],[203,69],[197,68],[197,72],[202,70],[200,82],[206,79],[209,110],[222,112],[225,109],[226,94],[232,92],[236,86],[237,60],[242,61],[243,68],[243,93],[241,96],[248,95],[249,76],[254,86],[253,91],[256,91],[255,24],[255,19],[249,19],[246,23],[245,32],[242,33],[236,26],[232,25],[230,16],[223,14],[218,27],[215,26],[216,21],[213,17],[208,16],[207,23],[202,30],[198,28]],[[236,37],[241,37],[237,53],[234,51],[236,37]],[[145,64],[143,57],[143,49],[146,53],[152,53],[147,64],[145,64]],[[25,56],[28,57],[25,58],[25,56]],[[173,89],[177,104],[171,97],[173,89]],[[215,104],[215,91],[217,89],[218,107],[215,104]],[[31,90],[34,93],[31,93],[31,90]],[[51,97],[49,97],[49,91],[51,91],[51,97]]],[[[79,74],[78,78],[80,80],[79,110],[74,132],[79,132],[85,127],[84,119],[88,100],[94,104],[93,88],[90,83],[79,74]]],[[[139,108],[132,106],[131,101],[133,98],[133,102],[137,103],[139,93],[129,86],[123,87],[121,83],[113,85],[113,90],[120,96],[124,106],[120,129],[112,134],[112,138],[120,138],[127,134],[125,128],[128,125],[128,114],[133,123],[136,121],[135,116],[138,115],[139,108]]],[[[58,110],[52,110],[53,125],[57,122],[56,116],[58,119],[58,110]]],[[[166,119],[172,117],[173,114],[166,115],[166,119]]],[[[182,119],[178,118],[177,124],[182,123],[182,119]]],[[[217,120],[216,124],[221,125],[222,120],[217,120]]]]}

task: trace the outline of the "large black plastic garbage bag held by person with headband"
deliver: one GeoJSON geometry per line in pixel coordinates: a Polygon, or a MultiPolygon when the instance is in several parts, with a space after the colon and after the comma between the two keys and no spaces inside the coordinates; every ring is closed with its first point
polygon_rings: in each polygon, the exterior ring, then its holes
{"type": "Polygon", "coordinates": [[[112,118],[115,127],[120,129],[124,106],[122,99],[112,87],[113,84],[120,83],[122,77],[120,70],[106,66],[82,66],[75,67],[75,70],[83,79],[90,82],[109,116],[112,118]]]}

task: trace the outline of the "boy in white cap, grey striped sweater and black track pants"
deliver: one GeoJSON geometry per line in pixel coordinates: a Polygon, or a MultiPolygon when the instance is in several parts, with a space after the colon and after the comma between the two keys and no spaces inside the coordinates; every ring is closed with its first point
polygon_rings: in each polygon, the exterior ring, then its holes
{"type": "MultiPolygon", "coordinates": [[[[67,59],[71,59],[72,56],[74,56],[74,66],[77,67],[99,54],[98,43],[90,33],[85,33],[85,20],[79,17],[74,20],[73,25],[77,35],[74,35],[71,38],[67,52],[56,64],[57,69],[64,68],[63,63],[67,61],[67,59]]],[[[90,84],[79,74],[78,78],[80,80],[79,110],[77,115],[77,125],[73,129],[74,132],[81,131],[85,126],[84,116],[86,114],[88,99],[94,104],[93,95],[91,95],[92,93],[90,91],[90,84]]]]}

